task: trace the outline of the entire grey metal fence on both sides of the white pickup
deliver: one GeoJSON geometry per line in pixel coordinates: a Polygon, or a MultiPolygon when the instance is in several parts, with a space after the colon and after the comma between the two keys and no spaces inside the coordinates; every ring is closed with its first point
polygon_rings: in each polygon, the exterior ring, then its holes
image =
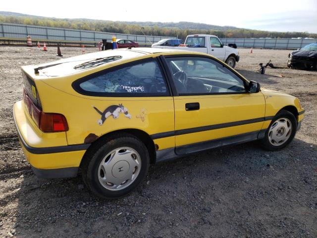
{"type": "MultiPolygon", "coordinates": [[[[166,36],[144,36],[129,35],[99,31],[83,31],[64,28],[31,26],[24,24],[0,23],[0,38],[5,39],[8,43],[10,39],[20,39],[26,41],[26,37],[31,36],[34,40],[44,42],[63,41],[65,45],[72,43],[80,44],[86,42],[96,45],[102,39],[111,40],[112,36],[117,39],[129,39],[137,41],[141,46],[150,46],[151,43],[158,42],[165,38],[175,38],[166,36]]],[[[1,40],[1,39],[0,39],[1,40]]],[[[237,47],[253,47],[253,48],[275,48],[275,49],[298,49],[311,43],[317,43],[317,39],[270,39],[270,38],[222,38],[220,39],[225,45],[235,43],[237,47]]],[[[18,40],[17,40],[18,41],[18,40]]],[[[11,41],[12,42],[12,41],[11,41]]]]}

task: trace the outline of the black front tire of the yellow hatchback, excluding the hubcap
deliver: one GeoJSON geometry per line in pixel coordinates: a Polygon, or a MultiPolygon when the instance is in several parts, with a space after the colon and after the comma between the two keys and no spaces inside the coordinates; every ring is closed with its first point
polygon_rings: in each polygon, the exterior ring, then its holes
{"type": "Polygon", "coordinates": [[[265,131],[265,135],[264,138],[260,140],[260,145],[269,151],[277,151],[280,150],[282,148],[284,148],[285,146],[287,146],[294,138],[295,134],[296,134],[296,130],[297,130],[297,120],[295,118],[295,116],[290,113],[289,111],[286,110],[281,110],[280,112],[278,112],[275,117],[272,119],[271,123],[269,124],[267,130],[265,131]],[[290,136],[288,137],[287,140],[285,140],[281,145],[273,145],[270,140],[269,140],[269,130],[271,128],[271,126],[278,121],[279,119],[283,119],[286,118],[291,122],[291,132],[290,132],[290,136]]]}

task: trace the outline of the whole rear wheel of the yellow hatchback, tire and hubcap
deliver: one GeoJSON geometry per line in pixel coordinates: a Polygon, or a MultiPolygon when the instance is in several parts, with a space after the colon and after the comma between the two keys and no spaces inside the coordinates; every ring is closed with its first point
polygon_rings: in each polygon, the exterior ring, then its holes
{"type": "Polygon", "coordinates": [[[138,138],[120,134],[102,139],[87,153],[82,165],[89,189],[102,198],[118,198],[135,189],[149,168],[149,153],[138,138]]]}

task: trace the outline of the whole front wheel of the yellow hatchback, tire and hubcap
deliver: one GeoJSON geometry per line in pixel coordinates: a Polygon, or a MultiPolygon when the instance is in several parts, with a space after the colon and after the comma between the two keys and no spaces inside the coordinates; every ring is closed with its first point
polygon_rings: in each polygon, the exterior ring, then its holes
{"type": "Polygon", "coordinates": [[[260,140],[261,146],[270,151],[280,150],[293,140],[296,130],[295,116],[282,110],[272,119],[264,138],[260,140]]]}

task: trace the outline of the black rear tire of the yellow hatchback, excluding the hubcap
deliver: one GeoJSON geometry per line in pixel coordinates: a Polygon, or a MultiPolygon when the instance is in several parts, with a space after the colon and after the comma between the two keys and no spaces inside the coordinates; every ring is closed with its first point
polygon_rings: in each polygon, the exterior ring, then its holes
{"type": "Polygon", "coordinates": [[[89,148],[81,165],[82,177],[92,193],[101,198],[114,199],[134,190],[145,179],[149,170],[149,164],[149,152],[144,143],[131,134],[120,133],[100,139],[89,148]],[[141,169],[137,177],[127,187],[121,190],[109,190],[98,179],[100,173],[99,166],[109,152],[120,147],[132,148],[139,154],[141,169]]]}

